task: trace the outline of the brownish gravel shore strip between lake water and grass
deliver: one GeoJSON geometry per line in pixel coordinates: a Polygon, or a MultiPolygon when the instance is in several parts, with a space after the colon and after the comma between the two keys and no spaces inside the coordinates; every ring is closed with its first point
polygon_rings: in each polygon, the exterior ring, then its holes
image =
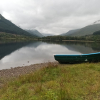
{"type": "Polygon", "coordinates": [[[7,81],[11,78],[18,77],[19,75],[28,74],[30,72],[36,71],[43,67],[47,67],[49,64],[57,65],[58,62],[40,63],[40,64],[33,64],[29,66],[22,66],[22,67],[15,67],[11,69],[0,70],[0,86],[3,84],[4,81],[7,81]]]}

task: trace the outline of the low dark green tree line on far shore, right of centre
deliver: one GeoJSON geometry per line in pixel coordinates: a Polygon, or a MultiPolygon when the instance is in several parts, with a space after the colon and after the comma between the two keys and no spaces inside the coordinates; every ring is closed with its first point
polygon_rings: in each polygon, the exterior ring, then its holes
{"type": "Polygon", "coordinates": [[[86,36],[47,36],[39,38],[44,41],[100,41],[100,35],[86,35],[86,36]]]}

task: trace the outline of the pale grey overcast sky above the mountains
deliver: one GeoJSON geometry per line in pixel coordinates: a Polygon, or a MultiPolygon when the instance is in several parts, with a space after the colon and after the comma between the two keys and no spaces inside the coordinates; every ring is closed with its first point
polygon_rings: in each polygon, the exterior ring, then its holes
{"type": "Polygon", "coordinates": [[[0,0],[0,13],[23,29],[56,35],[100,20],[100,0],[0,0]]]}

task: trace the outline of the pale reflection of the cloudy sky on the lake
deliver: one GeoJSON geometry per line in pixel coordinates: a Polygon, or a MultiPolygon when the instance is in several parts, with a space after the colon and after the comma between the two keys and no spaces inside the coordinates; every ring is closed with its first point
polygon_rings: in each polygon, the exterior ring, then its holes
{"type": "Polygon", "coordinates": [[[38,47],[34,48],[34,46],[26,46],[22,47],[19,50],[11,53],[8,56],[5,56],[1,62],[0,66],[10,68],[17,67],[35,63],[43,63],[48,61],[55,61],[53,54],[72,54],[78,53],[76,51],[70,51],[61,45],[55,44],[47,44],[42,43],[38,47]],[[28,63],[29,61],[29,63],[28,63]],[[8,66],[8,67],[7,67],[8,66]]]}

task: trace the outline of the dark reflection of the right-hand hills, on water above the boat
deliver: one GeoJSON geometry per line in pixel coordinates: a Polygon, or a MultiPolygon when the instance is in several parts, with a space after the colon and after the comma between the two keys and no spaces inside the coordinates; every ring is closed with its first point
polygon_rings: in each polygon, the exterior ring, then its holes
{"type": "Polygon", "coordinates": [[[95,42],[49,42],[56,43],[65,46],[67,49],[72,51],[78,51],[80,53],[92,53],[100,51],[100,43],[95,42]]]}

